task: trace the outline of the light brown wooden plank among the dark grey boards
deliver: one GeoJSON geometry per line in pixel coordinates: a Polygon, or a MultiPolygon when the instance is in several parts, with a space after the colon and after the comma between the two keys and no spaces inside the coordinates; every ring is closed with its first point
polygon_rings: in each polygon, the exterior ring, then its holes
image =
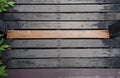
{"type": "Polygon", "coordinates": [[[8,30],[7,38],[109,38],[108,30],[8,30]]]}

